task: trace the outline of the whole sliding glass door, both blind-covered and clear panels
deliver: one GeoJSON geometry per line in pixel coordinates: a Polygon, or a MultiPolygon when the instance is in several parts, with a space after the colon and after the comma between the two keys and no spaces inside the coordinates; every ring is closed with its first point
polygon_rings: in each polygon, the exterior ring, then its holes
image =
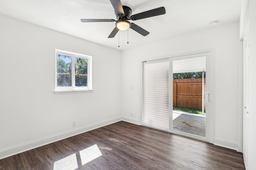
{"type": "Polygon", "coordinates": [[[209,141],[208,57],[143,62],[142,125],[209,141]]]}

